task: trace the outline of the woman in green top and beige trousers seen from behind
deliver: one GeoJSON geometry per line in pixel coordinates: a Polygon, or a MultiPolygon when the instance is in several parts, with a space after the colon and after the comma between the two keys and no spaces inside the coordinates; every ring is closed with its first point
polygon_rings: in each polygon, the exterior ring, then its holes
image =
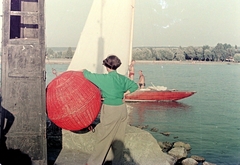
{"type": "Polygon", "coordinates": [[[115,55],[103,60],[108,74],[91,73],[83,70],[84,77],[101,91],[103,104],[100,123],[95,127],[97,143],[87,165],[102,165],[106,161],[120,164],[123,159],[124,136],[127,126],[127,108],[124,97],[138,89],[138,85],[124,75],[117,73],[121,65],[115,55]]]}

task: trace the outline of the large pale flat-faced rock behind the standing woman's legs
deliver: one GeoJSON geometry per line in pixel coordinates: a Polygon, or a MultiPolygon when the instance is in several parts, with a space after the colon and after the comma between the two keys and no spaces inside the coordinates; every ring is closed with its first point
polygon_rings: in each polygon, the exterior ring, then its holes
{"type": "MultiPolygon", "coordinates": [[[[63,149],[56,165],[85,165],[96,143],[95,134],[72,133],[63,130],[63,149]]],[[[157,140],[147,131],[127,126],[125,136],[125,164],[174,165],[176,158],[163,153],[157,140]],[[131,161],[131,162],[129,162],[131,161]]]]}

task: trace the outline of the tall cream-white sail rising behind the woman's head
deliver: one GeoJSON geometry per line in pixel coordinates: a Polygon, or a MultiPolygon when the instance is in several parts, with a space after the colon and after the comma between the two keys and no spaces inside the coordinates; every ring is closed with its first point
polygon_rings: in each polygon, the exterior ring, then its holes
{"type": "Polygon", "coordinates": [[[94,0],[68,70],[106,73],[102,61],[116,55],[126,75],[132,52],[134,0],[94,0]]]}

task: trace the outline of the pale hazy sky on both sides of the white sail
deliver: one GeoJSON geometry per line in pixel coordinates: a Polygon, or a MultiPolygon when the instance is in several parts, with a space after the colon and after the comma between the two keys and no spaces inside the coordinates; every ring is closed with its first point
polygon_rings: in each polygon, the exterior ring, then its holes
{"type": "MultiPolygon", "coordinates": [[[[77,46],[92,1],[45,0],[47,47],[77,46]]],[[[240,45],[240,0],[135,1],[134,47],[240,45]]]]}

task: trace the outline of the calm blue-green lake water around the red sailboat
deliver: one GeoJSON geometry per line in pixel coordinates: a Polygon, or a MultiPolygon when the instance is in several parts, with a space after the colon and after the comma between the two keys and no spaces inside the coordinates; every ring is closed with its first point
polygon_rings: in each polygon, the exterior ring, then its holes
{"type": "MultiPolygon", "coordinates": [[[[54,78],[51,68],[63,72],[67,67],[47,64],[47,83],[54,78]]],[[[146,130],[158,141],[189,143],[189,155],[203,156],[208,162],[240,164],[240,64],[136,63],[135,70],[143,71],[147,86],[197,93],[178,102],[128,104],[131,125],[148,125],[146,130]]]]}

